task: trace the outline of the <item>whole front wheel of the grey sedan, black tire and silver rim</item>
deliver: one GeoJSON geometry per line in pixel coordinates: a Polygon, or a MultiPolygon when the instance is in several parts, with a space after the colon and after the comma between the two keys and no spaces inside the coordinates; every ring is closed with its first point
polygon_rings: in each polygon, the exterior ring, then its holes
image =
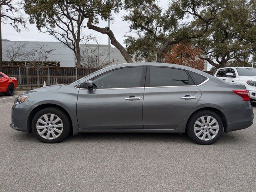
{"type": "Polygon", "coordinates": [[[69,116],[62,110],[54,107],[44,108],[37,112],[32,119],[31,126],[36,138],[44,143],[58,143],[64,140],[71,130],[69,116]],[[44,117],[48,118],[48,121],[44,117]]]}

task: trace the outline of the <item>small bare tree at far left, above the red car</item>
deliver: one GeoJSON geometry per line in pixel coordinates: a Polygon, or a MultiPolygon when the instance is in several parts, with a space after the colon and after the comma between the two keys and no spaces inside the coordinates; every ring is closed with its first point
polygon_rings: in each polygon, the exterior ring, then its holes
{"type": "Polygon", "coordinates": [[[13,65],[13,62],[18,60],[23,60],[24,48],[26,47],[26,42],[21,43],[8,43],[6,42],[3,48],[4,58],[13,65]]]}

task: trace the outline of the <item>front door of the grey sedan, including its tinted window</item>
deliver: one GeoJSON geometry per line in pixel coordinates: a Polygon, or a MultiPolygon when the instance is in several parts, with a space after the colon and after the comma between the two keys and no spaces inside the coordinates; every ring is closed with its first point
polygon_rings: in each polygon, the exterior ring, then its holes
{"type": "Polygon", "coordinates": [[[93,78],[93,89],[78,93],[77,118],[82,129],[143,128],[146,67],[124,67],[93,78]]]}

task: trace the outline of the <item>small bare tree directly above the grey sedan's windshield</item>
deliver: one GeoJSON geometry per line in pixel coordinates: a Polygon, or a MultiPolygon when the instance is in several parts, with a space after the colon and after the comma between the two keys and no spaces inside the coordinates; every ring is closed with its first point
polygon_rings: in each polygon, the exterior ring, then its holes
{"type": "Polygon", "coordinates": [[[89,72],[92,73],[96,70],[102,69],[105,66],[109,65],[108,63],[108,51],[100,51],[100,46],[98,41],[94,39],[96,42],[96,46],[89,45],[89,41],[83,41],[84,45],[82,46],[82,66],[88,68],[89,72]]]}

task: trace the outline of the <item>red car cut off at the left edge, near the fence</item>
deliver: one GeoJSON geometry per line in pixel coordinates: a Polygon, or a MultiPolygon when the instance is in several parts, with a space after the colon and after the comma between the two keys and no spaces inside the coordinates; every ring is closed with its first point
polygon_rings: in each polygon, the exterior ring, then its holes
{"type": "Polygon", "coordinates": [[[18,81],[14,77],[8,77],[6,74],[0,72],[0,93],[4,93],[7,96],[14,95],[18,81]]]}

